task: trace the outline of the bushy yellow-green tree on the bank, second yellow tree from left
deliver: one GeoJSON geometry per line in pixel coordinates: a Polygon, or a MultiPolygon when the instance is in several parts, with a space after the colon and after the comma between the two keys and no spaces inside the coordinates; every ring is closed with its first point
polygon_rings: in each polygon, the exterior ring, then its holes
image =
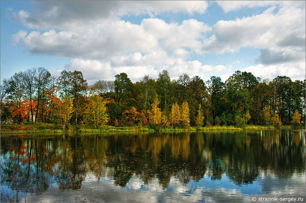
{"type": "Polygon", "coordinates": [[[95,128],[105,125],[109,121],[105,101],[101,96],[94,95],[89,97],[86,107],[86,119],[93,123],[95,128]]]}

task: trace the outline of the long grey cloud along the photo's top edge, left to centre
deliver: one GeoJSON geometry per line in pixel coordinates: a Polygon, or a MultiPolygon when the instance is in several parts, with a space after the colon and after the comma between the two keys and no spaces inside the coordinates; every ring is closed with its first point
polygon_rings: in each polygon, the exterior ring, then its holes
{"type": "Polygon", "coordinates": [[[164,12],[203,14],[206,1],[44,1],[31,12],[21,10],[12,18],[28,28],[77,29],[80,24],[95,25],[103,19],[124,15],[154,15],[164,12]]]}

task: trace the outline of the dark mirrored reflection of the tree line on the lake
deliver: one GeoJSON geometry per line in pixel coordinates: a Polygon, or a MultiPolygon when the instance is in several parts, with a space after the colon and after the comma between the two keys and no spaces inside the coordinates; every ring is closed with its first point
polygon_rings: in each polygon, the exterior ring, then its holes
{"type": "Polygon", "coordinates": [[[158,179],[162,189],[172,177],[183,186],[204,177],[227,177],[236,186],[252,185],[267,174],[290,179],[305,175],[305,132],[1,138],[1,202],[6,196],[18,202],[27,193],[40,195],[53,185],[60,191],[80,189],[89,172],[121,187],[135,175],[144,185],[158,179]]]}

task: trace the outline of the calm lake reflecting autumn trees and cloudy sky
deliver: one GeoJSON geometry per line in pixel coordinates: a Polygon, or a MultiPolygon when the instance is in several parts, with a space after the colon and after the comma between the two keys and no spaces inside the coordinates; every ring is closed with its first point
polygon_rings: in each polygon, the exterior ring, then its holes
{"type": "Polygon", "coordinates": [[[305,177],[305,131],[1,137],[1,202],[250,202],[305,177]]]}

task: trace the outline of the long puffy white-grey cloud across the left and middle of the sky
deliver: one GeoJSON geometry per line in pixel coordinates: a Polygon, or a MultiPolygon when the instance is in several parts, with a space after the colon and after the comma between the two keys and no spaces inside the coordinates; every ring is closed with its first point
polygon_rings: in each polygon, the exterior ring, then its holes
{"type": "Polygon", "coordinates": [[[194,19],[185,20],[181,25],[167,24],[160,19],[144,19],[141,25],[104,20],[80,30],[51,29],[41,34],[32,31],[23,42],[36,54],[109,59],[133,52],[172,51],[183,47],[198,52],[199,39],[209,30],[207,25],[194,19]]]}

